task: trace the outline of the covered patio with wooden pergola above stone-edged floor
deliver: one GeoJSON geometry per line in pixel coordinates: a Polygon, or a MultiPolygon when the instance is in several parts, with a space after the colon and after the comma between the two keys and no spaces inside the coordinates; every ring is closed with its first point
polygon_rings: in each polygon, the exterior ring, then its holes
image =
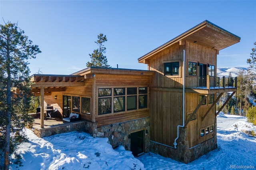
{"type": "MultiPolygon", "coordinates": [[[[31,77],[31,89],[35,96],[40,96],[40,117],[35,117],[32,128],[39,137],[50,136],[62,132],[80,130],[85,121],[64,123],[62,118],[50,119],[45,117],[46,107],[44,96],[52,92],[65,91],[66,87],[83,86],[84,76],[79,75],[42,75],[36,74],[31,77]]],[[[63,116],[63,113],[61,113],[63,116]]]]}

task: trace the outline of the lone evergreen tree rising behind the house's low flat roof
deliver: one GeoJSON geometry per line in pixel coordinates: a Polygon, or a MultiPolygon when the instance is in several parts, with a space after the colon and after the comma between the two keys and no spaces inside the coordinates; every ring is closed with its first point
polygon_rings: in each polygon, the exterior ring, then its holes
{"type": "Polygon", "coordinates": [[[108,59],[104,55],[104,53],[106,53],[106,47],[104,47],[103,43],[106,41],[108,41],[106,36],[100,33],[100,35],[98,35],[98,40],[95,42],[98,45],[98,48],[94,49],[92,54],[89,54],[91,61],[86,63],[87,67],[110,67],[110,65],[108,65],[108,59]]]}

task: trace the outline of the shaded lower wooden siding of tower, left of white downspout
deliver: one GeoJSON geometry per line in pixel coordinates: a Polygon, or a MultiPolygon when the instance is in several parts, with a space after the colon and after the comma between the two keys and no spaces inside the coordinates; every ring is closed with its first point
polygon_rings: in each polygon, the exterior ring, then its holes
{"type": "Polygon", "coordinates": [[[182,125],[182,93],[154,89],[150,103],[151,140],[173,147],[177,126],[182,125]]]}

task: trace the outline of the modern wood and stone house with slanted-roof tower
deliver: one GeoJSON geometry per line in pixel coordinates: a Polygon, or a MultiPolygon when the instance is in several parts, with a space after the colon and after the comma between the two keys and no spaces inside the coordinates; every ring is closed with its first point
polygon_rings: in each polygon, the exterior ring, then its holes
{"type": "Polygon", "coordinates": [[[236,92],[236,78],[216,77],[217,55],[238,42],[206,20],[140,57],[148,70],[88,67],[34,75],[32,92],[64,117],[80,114],[84,130],[108,137],[113,148],[188,163],[217,148],[216,103],[236,92]]]}

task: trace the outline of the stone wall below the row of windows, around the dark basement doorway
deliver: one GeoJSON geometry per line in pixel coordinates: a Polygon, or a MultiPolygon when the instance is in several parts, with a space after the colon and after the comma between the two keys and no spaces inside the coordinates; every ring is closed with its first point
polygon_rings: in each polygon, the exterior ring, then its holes
{"type": "Polygon", "coordinates": [[[108,142],[112,145],[113,148],[122,145],[126,150],[130,150],[129,135],[132,132],[137,132],[140,130],[145,130],[144,152],[146,153],[149,152],[150,149],[150,135],[149,133],[146,134],[146,130],[150,132],[150,118],[137,119],[133,121],[98,127],[97,129],[94,129],[94,133],[97,137],[108,138],[108,142]]]}

